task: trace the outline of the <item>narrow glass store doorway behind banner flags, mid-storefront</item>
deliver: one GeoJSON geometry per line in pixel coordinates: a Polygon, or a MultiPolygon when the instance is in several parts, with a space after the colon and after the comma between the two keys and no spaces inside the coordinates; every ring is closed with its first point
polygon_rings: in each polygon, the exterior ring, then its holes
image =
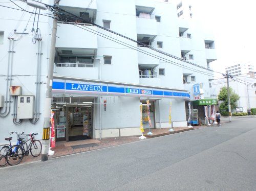
{"type": "Polygon", "coordinates": [[[155,128],[155,101],[150,100],[150,120],[152,127],[150,127],[150,124],[148,123],[148,115],[147,115],[147,104],[146,100],[140,100],[142,103],[142,124],[144,129],[149,129],[149,128],[155,128]]]}

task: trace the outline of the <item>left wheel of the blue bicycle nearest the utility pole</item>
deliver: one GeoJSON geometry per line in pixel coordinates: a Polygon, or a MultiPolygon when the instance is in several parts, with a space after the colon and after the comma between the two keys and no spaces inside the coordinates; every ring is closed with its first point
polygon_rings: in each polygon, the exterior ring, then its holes
{"type": "Polygon", "coordinates": [[[11,166],[19,164],[24,157],[24,151],[22,145],[14,145],[12,146],[6,155],[7,163],[11,166]]]}

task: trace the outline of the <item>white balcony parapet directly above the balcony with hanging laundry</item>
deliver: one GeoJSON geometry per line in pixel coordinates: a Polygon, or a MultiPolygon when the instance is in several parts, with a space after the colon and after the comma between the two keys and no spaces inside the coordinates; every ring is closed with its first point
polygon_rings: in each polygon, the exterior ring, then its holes
{"type": "MultiPolygon", "coordinates": [[[[159,55],[158,52],[153,51],[151,49],[148,49],[147,47],[143,47],[143,46],[138,46],[138,49],[140,49],[141,51],[146,51],[146,54],[154,54],[154,55],[159,55]]],[[[143,65],[143,64],[152,64],[152,65],[159,65],[159,60],[157,58],[154,58],[152,56],[146,55],[144,53],[138,52],[138,63],[139,65],[143,65]]],[[[154,56],[153,55],[153,56],[154,56]]]]}

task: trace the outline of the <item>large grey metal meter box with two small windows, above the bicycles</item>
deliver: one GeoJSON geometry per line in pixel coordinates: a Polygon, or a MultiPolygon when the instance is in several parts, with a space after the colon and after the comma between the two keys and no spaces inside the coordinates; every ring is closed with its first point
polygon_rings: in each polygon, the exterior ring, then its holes
{"type": "Polygon", "coordinates": [[[18,96],[17,119],[34,117],[34,96],[18,96]]]}

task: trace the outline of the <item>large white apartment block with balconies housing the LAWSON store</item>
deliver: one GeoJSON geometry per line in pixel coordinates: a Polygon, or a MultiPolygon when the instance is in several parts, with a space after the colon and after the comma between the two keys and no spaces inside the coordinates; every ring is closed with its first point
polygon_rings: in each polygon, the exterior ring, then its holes
{"type": "MultiPolygon", "coordinates": [[[[172,1],[61,0],[59,7],[83,19],[58,21],[52,100],[57,141],[139,135],[141,103],[143,127],[149,128],[146,100],[150,100],[152,128],[170,127],[170,102],[173,127],[184,127],[193,84],[203,84],[209,97],[209,78],[197,67],[84,21],[209,67],[216,53],[214,48],[205,49],[205,43],[214,47],[214,38],[202,33],[196,22],[179,19],[172,1]]],[[[0,142],[11,131],[41,136],[52,18],[39,16],[41,38],[38,34],[35,44],[30,31],[37,28],[37,15],[34,21],[30,13],[0,7],[0,18],[0,85],[4,87],[0,89],[0,142]]]]}

